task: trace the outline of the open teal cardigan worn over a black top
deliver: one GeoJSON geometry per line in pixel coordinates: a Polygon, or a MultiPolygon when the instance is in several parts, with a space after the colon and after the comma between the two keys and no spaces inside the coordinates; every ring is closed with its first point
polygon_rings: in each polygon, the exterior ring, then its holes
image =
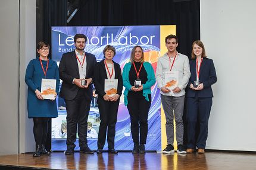
{"type": "MultiPolygon", "coordinates": [[[[132,63],[126,63],[123,68],[123,84],[124,87],[126,88],[124,90],[124,105],[128,104],[127,100],[127,95],[130,89],[132,88],[132,85],[130,85],[129,81],[129,72],[130,72],[130,67],[132,66],[132,63]]],[[[147,78],[148,81],[146,81],[146,84],[143,85],[143,96],[145,97],[146,101],[149,101],[148,94],[151,94],[151,86],[155,84],[155,73],[154,69],[151,66],[151,63],[149,62],[143,62],[143,66],[146,70],[146,73],[148,74],[147,78]]]]}

